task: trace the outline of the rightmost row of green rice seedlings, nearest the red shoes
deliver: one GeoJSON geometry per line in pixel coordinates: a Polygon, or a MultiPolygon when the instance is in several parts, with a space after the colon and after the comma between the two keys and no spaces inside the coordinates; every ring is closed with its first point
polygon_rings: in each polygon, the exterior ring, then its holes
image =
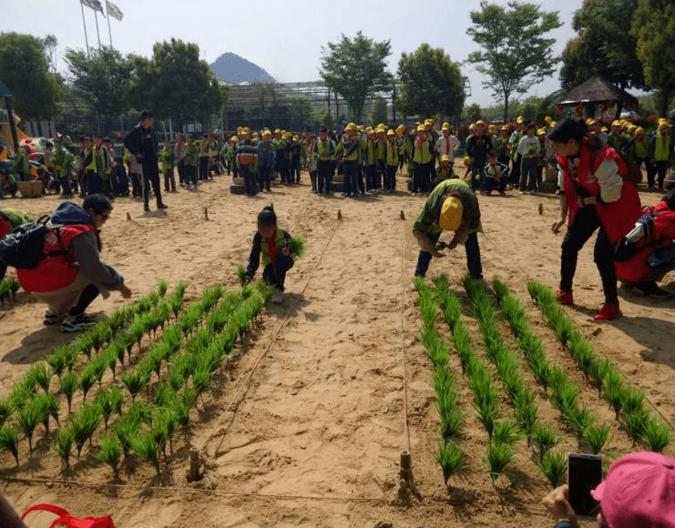
{"type": "Polygon", "coordinates": [[[672,434],[668,426],[647,409],[644,393],[630,385],[619,369],[582,337],[574,321],[557,303],[552,289],[528,280],[527,290],[556,332],[557,339],[567,347],[586,379],[598,389],[598,397],[608,401],[617,420],[623,412],[626,432],[633,445],[644,442],[649,451],[662,452],[672,441],[672,434]]]}

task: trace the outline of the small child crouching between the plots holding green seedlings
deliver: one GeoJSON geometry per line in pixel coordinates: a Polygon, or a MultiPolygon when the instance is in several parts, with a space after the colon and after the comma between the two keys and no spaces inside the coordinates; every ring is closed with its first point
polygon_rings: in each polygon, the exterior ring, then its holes
{"type": "Polygon", "coordinates": [[[283,302],[283,283],[286,272],[293,267],[291,250],[288,243],[291,235],[277,226],[277,215],[270,205],[258,215],[258,230],[253,237],[253,246],[246,269],[246,282],[250,282],[260,266],[262,259],[262,279],[274,286],[272,302],[283,302]]]}

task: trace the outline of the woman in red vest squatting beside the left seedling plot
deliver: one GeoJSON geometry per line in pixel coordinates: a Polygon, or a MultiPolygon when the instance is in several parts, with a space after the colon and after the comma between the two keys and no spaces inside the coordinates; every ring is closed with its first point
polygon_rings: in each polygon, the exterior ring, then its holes
{"type": "Polygon", "coordinates": [[[101,262],[100,229],[112,212],[102,195],[87,197],[82,207],[66,201],[50,215],[52,229],[45,238],[45,255],[36,268],[16,269],[21,287],[46,302],[45,324],[61,322],[61,330],[87,330],[96,321],[85,310],[98,295],[118,290],[124,299],[131,290],[115,269],[101,262]]]}

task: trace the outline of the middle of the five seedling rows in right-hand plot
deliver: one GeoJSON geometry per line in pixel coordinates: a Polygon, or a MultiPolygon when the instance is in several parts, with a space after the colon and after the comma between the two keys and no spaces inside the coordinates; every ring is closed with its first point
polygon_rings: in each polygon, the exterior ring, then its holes
{"type": "Polygon", "coordinates": [[[521,432],[527,436],[527,445],[534,443],[539,456],[534,460],[538,470],[555,488],[564,479],[567,462],[564,454],[551,453],[559,442],[559,435],[551,426],[537,422],[537,394],[527,387],[515,354],[506,345],[498,329],[498,312],[492,306],[482,284],[468,276],[464,286],[470,300],[470,308],[478,320],[484,340],[486,355],[495,363],[497,374],[514,408],[514,416],[521,432]]]}

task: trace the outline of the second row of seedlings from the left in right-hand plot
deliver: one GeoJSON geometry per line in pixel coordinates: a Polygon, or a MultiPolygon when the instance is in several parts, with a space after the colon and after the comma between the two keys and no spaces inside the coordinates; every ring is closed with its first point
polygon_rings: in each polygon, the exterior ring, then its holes
{"type": "Polygon", "coordinates": [[[451,293],[446,278],[435,279],[435,296],[445,322],[453,334],[455,349],[468,384],[474,393],[474,407],[477,418],[488,435],[486,462],[490,480],[496,480],[513,462],[516,429],[511,421],[500,420],[495,380],[485,360],[476,356],[471,333],[461,318],[462,302],[451,293]]]}

